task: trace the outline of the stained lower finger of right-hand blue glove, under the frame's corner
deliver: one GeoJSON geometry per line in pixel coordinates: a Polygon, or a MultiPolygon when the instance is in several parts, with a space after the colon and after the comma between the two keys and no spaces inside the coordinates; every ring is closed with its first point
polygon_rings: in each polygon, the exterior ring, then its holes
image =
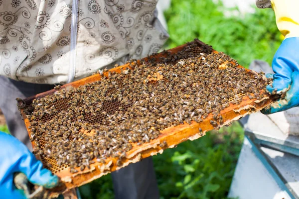
{"type": "Polygon", "coordinates": [[[287,110],[299,105],[299,72],[292,74],[292,85],[290,90],[286,93],[285,99],[275,102],[269,109],[263,109],[261,112],[264,114],[272,114],[287,110]]]}

